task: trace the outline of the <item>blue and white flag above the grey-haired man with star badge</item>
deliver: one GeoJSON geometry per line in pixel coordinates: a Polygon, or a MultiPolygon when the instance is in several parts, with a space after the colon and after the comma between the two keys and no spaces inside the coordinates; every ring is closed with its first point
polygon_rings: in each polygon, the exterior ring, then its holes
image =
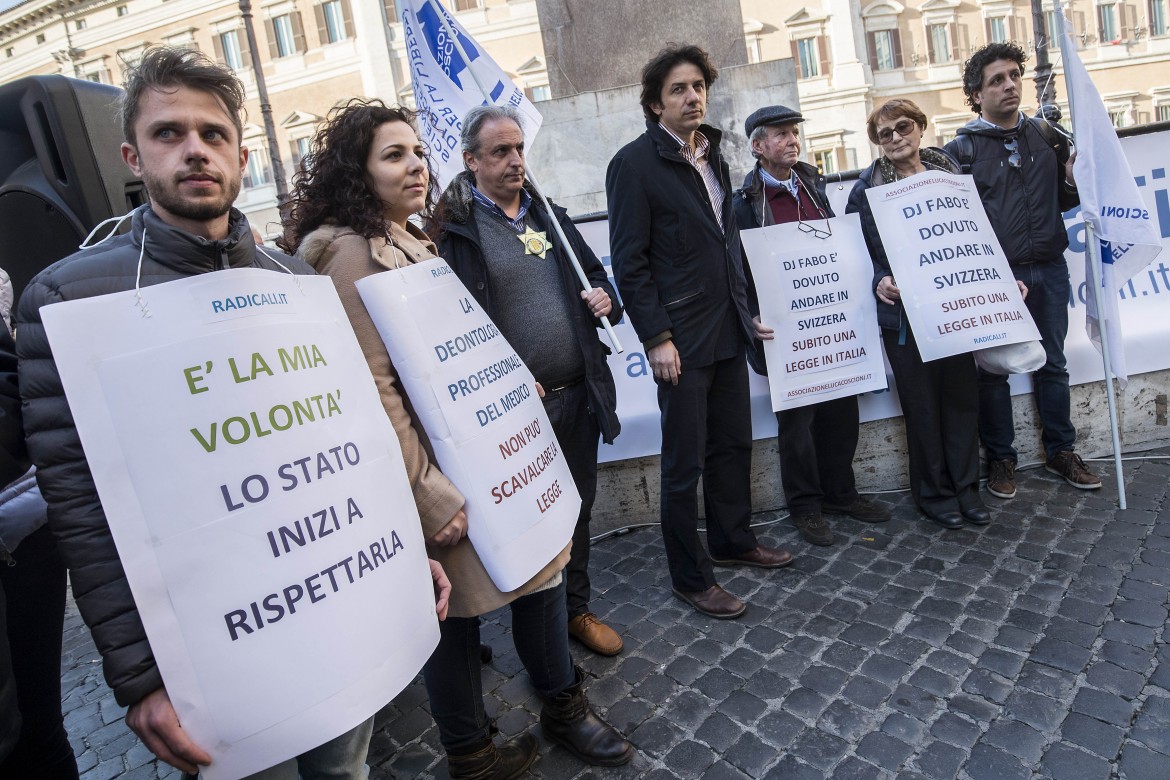
{"type": "Polygon", "coordinates": [[[459,20],[439,0],[398,0],[398,7],[419,110],[419,133],[431,150],[439,185],[445,187],[463,170],[459,133],[463,117],[476,105],[514,106],[524,118],[524,143],[531,147],[541,129],[541,112],[459,20]],[[448,30],[457,36],[459,46],[448,30]]]}

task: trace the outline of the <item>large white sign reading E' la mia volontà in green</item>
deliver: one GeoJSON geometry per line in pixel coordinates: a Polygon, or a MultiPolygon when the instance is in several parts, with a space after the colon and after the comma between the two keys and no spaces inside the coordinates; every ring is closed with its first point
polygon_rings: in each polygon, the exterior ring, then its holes
{"type": "Polygon", "coordinates": [[[41,315],[202,776],[239,778],[418,674],[439,637],[421,526],[330,279],[232,270],[142,296],[41,315]]]}

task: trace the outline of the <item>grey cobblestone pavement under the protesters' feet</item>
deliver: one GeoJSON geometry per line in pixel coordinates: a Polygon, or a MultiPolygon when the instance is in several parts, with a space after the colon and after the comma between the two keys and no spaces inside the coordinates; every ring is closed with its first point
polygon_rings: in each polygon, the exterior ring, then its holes
{"type": "MultiPolygon", "coordinates": [[[[1170,461],[1133,461],[1126,475],[1126,511],[1112,479],[1086,492],[1033,469],[1016,499],[987,497],[997,511],[985,529],[937,529],[904,493],[881,496],[888,524],[833,519],[832,547],[810,547],[783,519],[764,525],[765,543],[799,557],[775,572],[721,570],[751,603],[737,621],[672,596],[656,530],[598,544],[593,606],[626,650],[573,654],[638,755],[592,769],[545,746],[532,776],[1170,776],[1170,461]]],[[[489,713],[508,736],[534,727],[539,704],[507,610],[483,636],[495,651],[489,713]]],[[[125,729],[71,605],[66,648],[82,776],[178,778],[125,729]]],[[[415,682],[379,713],[374,780],[447,776],[426,707],[415,682]]]]}

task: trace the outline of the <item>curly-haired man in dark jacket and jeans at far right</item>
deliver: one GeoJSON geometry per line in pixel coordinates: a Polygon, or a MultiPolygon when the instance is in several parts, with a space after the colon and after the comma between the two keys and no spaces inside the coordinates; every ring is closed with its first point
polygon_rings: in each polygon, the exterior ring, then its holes
{"type": "MultiPolygon", "coordinates": [[[[1020,112],[1024,61],[1014,43],[989,43],[963,67],[963,92],[979,116],[947,151],[975,178],[987,218],[1040,331],[1047,360],[1033,374],[1044,427],[1046,468],[1082,490],[1101,486],[1073,451],[1065,336],[1068,333],[1068,234],[1061,214],[1080,202],[1068,140],[1045,119],[1020,112]]],[[[979,372],[979,437],[987,457],[987,491],[1016,495],[1016,436],[1007,377],[979,372]]]]}

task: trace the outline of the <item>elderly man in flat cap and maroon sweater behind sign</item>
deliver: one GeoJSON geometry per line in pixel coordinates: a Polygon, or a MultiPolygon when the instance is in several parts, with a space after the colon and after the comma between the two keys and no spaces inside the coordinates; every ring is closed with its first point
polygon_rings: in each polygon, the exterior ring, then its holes
{"type": "MultiPolygon", "coordinates": [[[[801,122],[800,112],[785,105],[769,105],[748,117],[744,129],[756,167],[735,193],[741,230],[833,216],[825,195],[825,177],[800,160],[801,122]]],[[[758,324],[755,287],[749,288],[757,331],[760,338],[770,339],[771,329],[758,324]]],[[[757,361],[762,364],[762,359],[757,361]]],[[[883,508],[858,495],[853,477],[860,422],[855,395],[777,412],[776,421],[784,498],[792,524],[806,541],[833,544],[826,513],[848,515],[867,523],[889,519],[883,508]]]]}

